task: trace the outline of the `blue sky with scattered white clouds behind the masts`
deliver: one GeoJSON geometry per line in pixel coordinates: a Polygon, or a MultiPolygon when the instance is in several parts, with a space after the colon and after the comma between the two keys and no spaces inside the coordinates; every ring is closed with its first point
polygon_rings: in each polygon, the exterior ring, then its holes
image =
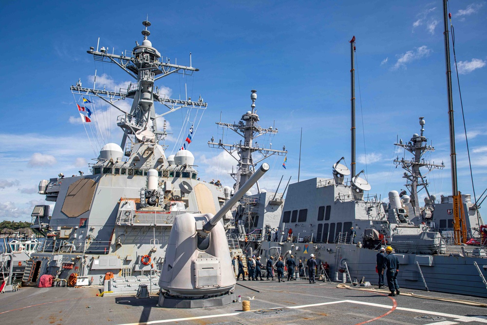
{"type": "MultiPolygon", "coordinates": [[[[449,1],[477,196],[487,187],[487,3],[449,1]]],[[[451,191],[441,1],[160,1],[147,9],[133,1],[2,1],[2,130],[0,131],[0,220],[29,220],[43,204],[42,179],[88,172],[97,156],[69,86],[78,78],[97,88],[128,83],[114,65],[94,62],[90,46],[131,50],[142,41],[141,22],[149,15],[153,46],[171,63],[200,69],[194,77],[171,76],[159,83],[172,97],[201,95],[208,109],[189,150],[202,179],[232,182],[232,158],[207,141],[222,137],[214,122],[238,121],[257,90],[263,127],[279,134],[262,141],[285,145],[283,157],[270,158],[261,187],[275,190],[281,175],[298,179],[300,129],[303,130],[300,179],[331,177],[340,157],[350,163],[350,43],[356,36],[357,172],[365,169],[371,194],[387,197],[404,188],[393,159],[402,152],[397,136],[419,133],[436,151],[427,156],[445,169],[430,174],[431,193],[451,191]],[[364,154],[367,153],[367,164],[364,154]]],[[[452,53],[453,59],[453,53],[452,53]]],[[[456,74],[453,74],[459,190],[472,193],[456,74]]],[[[106,142],[120,143],[116,112],[99,102],[97,118],[106,142]],[[111,121],[111,122],[109,122],[111,121]]],[[[121,104],[129,107],[130,103],[121,104]]],[[[165,112],[162,107],[158,112],[165,112]]],[[[180,146],[181,114],[168,115],[180,146]]],[[[239,140],[226,136],[224,141],[239,140]]],[[[93,141],[93,139],[92,139],[93,141]]],[[[259,140],[261,141],[261,140],[259,140]]],[[[92,142],[93,144],[93,142],[92,142]]],[[[408,156],[409,157],[409,156],[408,156]]],[[[281,185],[281,190],[283,185],[281,185]]],[[[486,203],[487,204],[487,203],[486,203]]],[[[485,210],[485,209],[484,209],[485,210]]],[[[485,213],[484,213],[485,214],[485,213]]]]}

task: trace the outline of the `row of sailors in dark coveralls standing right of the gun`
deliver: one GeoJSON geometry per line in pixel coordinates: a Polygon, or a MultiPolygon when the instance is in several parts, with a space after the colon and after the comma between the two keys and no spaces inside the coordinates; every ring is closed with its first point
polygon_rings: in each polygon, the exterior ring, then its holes
{"type": "MultiPolygon", "coordinates": [[[[246,281],[245,279],[245,271],[244,271],[244,261],[241,256],[234,256],[232,260],[233,270],[237,274],[237,280],[240,280],[240,275],[242,275],[242,280],[246,281]],[[236,272],[238,270],[238,273],[236,272]]],[[[310,258],[306,261],[306,266],[304,263],[299,260],[297,263],[294,259],[294,256],[291,255],[286,261],[285,266],[284,262],[282,261],[282,257],[278,258],[277,262],[274,262],[274,256],[270,256],[266,263],[266,280],[274,280],[274,270],[277,272],[278,281],[284,281],[284,271],[287,270],[287,281],[296,280],[295,272],[299,272],[300,278],[305,278],[305,268],[308,268],[308,279],[309,283],[313,284],[316,283],[316,274],[317,270],[324,273],[326,277],[328,277],[328,271],[330,266],[327,262],[317,262],[316,257],[314,254],[310,255],[310,258]]],[[[262,279],[262,263],[261,257],[256,257],[253,255],[252,257],[247,259],[247,274],[249,281],[257,281],[263,280],[262,279]]]]}

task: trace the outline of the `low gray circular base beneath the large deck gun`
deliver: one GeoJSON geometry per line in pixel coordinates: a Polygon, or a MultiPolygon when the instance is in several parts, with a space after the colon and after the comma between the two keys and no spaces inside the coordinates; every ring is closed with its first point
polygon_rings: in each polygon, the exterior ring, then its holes
{"type": "Polygon", "coordinates": [[[224,306],[233,303],[236,300],[234,293],[225,293],[217,297],[198,297],[198,298],[178,298],[166,295],[166,293],[159,293],[159,307],[164,308],[201,308],[224,306]]]}

